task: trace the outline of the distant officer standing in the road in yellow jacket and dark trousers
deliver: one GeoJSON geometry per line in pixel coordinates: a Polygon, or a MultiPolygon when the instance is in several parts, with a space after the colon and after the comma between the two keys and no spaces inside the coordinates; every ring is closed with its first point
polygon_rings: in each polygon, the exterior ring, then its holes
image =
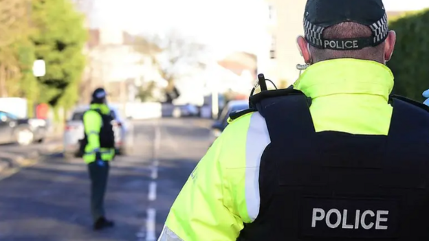
{"type": "Polygon", "coordinates": [[[109,176],[109,161],[115,154],[115,139],[111,121],[113,117],[106,104],[106,91],[99,88],[92,94],[89,111],[83,115],[85,138],[83,159],[88,165],[91,179],[91,213],[94,229],[112,227],[113,222],[104,214],[104,193],[109,176]]]}

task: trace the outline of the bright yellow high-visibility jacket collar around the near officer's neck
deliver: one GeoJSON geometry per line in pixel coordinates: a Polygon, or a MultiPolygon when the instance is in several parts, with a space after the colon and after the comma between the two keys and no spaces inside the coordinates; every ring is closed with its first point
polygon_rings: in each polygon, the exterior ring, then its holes
{"type": "Polygon", "coordinates": [[[366,94],[388,100],[393,79],[391,69],[379,62],[340,58],[308,67],[296,80],[294,89],[312,99],[336,94],[366,94]]]}

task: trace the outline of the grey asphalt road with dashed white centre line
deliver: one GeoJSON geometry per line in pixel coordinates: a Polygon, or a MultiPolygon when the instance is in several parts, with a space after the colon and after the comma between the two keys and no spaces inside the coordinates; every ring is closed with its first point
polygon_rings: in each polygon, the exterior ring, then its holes
{"type": "Polygon", "coordinates": [[[106,209],[113,229],[91,230],[83,161],[52,155],[0,181],[0,240],[156,240],[210,145],[210,123],[158,119],[134,125],[134,153],[111,164],[106,209]]]}

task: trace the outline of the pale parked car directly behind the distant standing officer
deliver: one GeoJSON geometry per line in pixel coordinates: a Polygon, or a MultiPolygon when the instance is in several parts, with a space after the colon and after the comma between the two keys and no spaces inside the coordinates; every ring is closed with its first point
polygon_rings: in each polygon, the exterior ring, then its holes
{"type": "MultiPolygon", "coordinates": [[[[114,117],[113,132],[115,133],[115,149],[117,154],[130,154],[133,149],[131,125],[127,123],[118,111],[118,108],[109,106],[114,117]]],[[[83,114],[89,106],[76,108],[70,119],[67,120],[64,130],[64,156],[79,157],[79,141],[85,137],[83,128],[83,114]]]]}

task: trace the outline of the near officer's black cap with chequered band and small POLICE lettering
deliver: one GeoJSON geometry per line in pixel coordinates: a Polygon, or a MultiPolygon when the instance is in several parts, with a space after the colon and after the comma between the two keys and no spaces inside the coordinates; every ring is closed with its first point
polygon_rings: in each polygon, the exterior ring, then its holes
{"type": "Polygon", "coordinates": [[[388,36],[386,10],[382,0],[308,0],[304,12],[305,39],[320,49],[352,50],[377,46],[388,36]],[[368,38],[325,39],[323,31],[344,22],[366,25],[368,38]]]}

